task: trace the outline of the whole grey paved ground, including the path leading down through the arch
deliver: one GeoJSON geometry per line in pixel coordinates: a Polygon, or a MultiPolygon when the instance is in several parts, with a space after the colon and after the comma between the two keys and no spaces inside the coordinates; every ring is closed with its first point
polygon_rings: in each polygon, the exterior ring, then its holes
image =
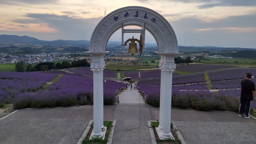
{"type": "MultiPolygon", "coordinates": [[[[151,144],[147,121],[159,120],[159,108],[144,104],[136,90],[119,98],[119,104],[104,106],[104,120],[116,120],[112,144],[151,144]]],[[[222,111],[171,112],[182,144],[256,144],[254,118],[222,111]]],[[[0,144],[77,144],[92,119],[93,106],[16,110],[0,118],[0,144]]]]}

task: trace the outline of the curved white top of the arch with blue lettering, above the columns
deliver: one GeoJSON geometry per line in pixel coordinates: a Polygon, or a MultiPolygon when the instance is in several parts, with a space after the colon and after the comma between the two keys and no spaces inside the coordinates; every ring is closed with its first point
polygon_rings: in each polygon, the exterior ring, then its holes
{"type": "Polygon", "coordinates": [[[157,12],[140,6],[120,8],[105,16],[92,33],[89,51],[105,52],[109,38],[122,28],[122,23],[124,26],[141,26],[142,22],[146,23],[146,30],[155,38],[158,52],[178,53],[177,38],[170,23],[157,12]],[[126,12],[129,15],[125,17],[126,12]],[[144,18],[145,15],[147,18],[144,18]]]}

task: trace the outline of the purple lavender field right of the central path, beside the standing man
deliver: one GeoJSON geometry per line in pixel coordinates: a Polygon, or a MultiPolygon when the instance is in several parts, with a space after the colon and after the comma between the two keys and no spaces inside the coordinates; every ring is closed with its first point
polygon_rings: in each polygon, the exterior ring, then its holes
{"type": "MultiPolygon", "coordinates": [[[[198,74],[173,76],[172,106],[194,108],[197,110],[228,110],[238,112],[240,83],[245,78],[247,72],[256,74],[256,69],[244,68],[208,72],[209,79],[211,80],[210,87],[207,85],[206,78],[201,72],[198,74]],[[210,90],[218,91],[211,92],[210,90]]],[[[252,78],[252,81],[256,83],[256,78],[252,78]]],[[[145,101],[148,104],[159,106],[160,78],[140,81],[138,86],[140,87],[140,93],[145,96],[145,101]]],[[[256,108],[255,102],[252,103],[252,107],[256,108]]]]}

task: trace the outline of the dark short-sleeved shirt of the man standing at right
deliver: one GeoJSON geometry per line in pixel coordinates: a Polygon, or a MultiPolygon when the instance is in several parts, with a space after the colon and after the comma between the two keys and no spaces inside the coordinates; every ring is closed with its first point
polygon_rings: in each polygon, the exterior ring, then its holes
{"type": "Polygon", "coordinates": [[[255,91],[255,84],[251,80],[244,79],[241,82],[241,96],[252,95],[252,91],[255,91]]]}

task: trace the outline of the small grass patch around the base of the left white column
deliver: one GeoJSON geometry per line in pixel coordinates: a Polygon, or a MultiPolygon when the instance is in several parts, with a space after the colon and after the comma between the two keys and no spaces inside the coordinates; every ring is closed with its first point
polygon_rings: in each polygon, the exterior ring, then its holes
{"type": "Polygon", "coordinates": [[[89,140],[90,135],[92,133],[92,129],[93,129],[93,123],[92,123],[86,138],[82,141],[82,144],[106,144],[108,142],[108,138],[111,132],[112,123],[113,123],[112,121],[103,122],[103,125],[107,127],[104,140],[102,140],[102,138],[92,138],[91,140],[89,140]]]}

